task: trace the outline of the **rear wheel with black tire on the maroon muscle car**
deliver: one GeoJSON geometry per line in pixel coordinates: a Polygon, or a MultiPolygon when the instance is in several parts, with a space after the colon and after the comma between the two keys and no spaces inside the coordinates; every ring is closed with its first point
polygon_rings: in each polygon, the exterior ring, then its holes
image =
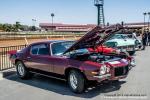
{"type": "Polygon", "coordinates": [[[17,75],[21,79],[28,79],[32,76],[22,61],[18,61],[16,63],[16,71],[17,71],[17,75]]]}

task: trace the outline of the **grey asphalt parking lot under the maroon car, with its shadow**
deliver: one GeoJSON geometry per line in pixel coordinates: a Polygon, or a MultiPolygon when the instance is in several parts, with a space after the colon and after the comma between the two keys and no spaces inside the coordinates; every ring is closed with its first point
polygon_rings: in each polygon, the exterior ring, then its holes
{"type": "Polygon", "coordinates": [[[83,94],[72,93],[65,81],[35,75],[21,80],[12,75],[0,80],[0,100],[129,100],[150,99],[150,47],[137,51],[134,67],[126,79],[90,87],[83,94]]]}

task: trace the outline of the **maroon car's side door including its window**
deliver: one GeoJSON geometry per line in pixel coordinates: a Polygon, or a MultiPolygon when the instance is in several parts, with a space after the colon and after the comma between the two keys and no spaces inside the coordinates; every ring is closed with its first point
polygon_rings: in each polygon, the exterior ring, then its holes
{"type": "Polygon", "coordinates": [[[52,72],[53,63],[51,61],[49,44],[32,45],[26,62],[32,69],[52,72]]]}

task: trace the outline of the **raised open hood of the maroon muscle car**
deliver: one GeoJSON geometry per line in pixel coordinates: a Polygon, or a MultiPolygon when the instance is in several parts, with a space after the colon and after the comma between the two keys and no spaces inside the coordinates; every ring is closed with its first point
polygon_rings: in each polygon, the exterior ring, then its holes
{"type": "Polygon", "coordinates": [[[77,49],[93,48],[102,45],[105,41],[111,38],[117,31],[120,31],[123,27],[120,24],[112,25],[109,27],[101,28],[96,26],[89,32],[87,32],[83,37],[81,37],[77,42],[75,42],[65,53],[68,53],[77,49]]]}

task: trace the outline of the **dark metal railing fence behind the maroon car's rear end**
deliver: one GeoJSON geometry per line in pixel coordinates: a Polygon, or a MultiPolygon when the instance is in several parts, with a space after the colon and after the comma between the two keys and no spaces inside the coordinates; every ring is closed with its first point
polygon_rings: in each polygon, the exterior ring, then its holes
{"type": "Polygon", "coordinates": [[[9,60],[9,52],[12,50],[21,50],[26,45],[0,47],[0,71],[13,68],[14,66],[9,60]]]}

